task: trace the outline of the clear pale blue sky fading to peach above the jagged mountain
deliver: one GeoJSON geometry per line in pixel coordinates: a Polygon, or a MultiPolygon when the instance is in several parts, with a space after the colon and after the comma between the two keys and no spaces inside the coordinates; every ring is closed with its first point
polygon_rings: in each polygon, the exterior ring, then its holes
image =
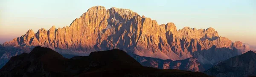
{"type": "Polygon", "coordinates": [[[177,29],[212,27],[233,42],[256,46],[256,0],[0,0],[0,43],[28,29],[69,26],[92,6],[131,9],[177,29]]]}

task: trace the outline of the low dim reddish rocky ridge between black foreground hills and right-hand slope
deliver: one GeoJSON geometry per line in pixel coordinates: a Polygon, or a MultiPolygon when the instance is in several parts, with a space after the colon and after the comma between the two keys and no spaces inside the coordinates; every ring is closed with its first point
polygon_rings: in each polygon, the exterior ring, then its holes
{"type": "Polygon", "coordinates": [[[199,63],[197,58],[188,58],[185,60],[161,60],[152,57],[141,57],[136,54],[130,54],[134,57],[142,66],[159,68],[159,69],[179,69],[186,71],[205,71],[209,69],[212,65],[206,65],[199,63]]]}

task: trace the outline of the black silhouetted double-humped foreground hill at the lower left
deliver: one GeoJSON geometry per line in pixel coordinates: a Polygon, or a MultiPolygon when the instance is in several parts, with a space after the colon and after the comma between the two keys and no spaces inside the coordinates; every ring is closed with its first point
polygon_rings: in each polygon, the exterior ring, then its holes
{"type": "Polygon", "coordinates": [[[143,67],[125,51],[96,51],[71,59],[51,48],[35,47],[29,54],[12,57],[0,77],[209,77],[201,72],[143,67]]]}

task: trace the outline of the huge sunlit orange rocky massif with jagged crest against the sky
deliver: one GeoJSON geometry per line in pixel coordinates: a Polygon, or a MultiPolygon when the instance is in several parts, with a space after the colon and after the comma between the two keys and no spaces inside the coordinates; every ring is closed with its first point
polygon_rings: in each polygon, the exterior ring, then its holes
{"type": "Polygon", "coordinates": [[[216,63],[222,58],[244,53],[246,49],[225,37],[219,37],[213,28],[184,27],[177,31],[174,23],[159,25],[157,21],[141,17],[129,9],[105,9],[103,6],[91,7],[70,26],[58,29],[52,26],[48,31],[39,29],[37,33],[29,30],[25,35],[3,44],[24,47],[38,45],[53,48],[62,54],[88,55],[91,51],[119,48],[164,60],[196,57],[200,58],[201,63],[216,63]],[[215,57],[218,52],[222,54],[215,57]]]}

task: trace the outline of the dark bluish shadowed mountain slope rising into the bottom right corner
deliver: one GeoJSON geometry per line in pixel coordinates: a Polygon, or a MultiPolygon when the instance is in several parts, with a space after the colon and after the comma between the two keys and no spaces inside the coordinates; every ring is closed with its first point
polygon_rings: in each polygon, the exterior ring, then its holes
{"type": "Polygon", "coordinates": [[[239,56],[225,60],[205,71],[216,77],[256,76],[256,51],[247,51],[239,56]]]}

